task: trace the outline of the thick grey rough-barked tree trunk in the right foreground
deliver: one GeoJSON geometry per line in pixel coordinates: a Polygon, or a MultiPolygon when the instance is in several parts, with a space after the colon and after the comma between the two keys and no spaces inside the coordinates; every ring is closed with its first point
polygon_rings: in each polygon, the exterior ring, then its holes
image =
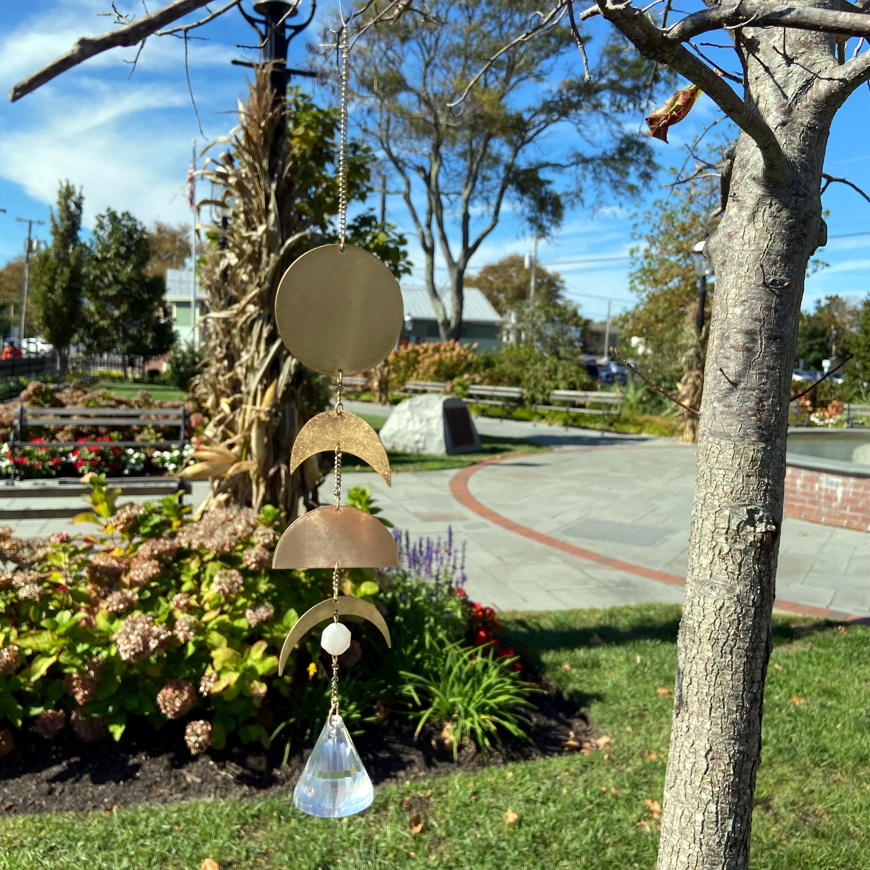
{"type": "Polygon", "coordinates": [[[789,31],[795,64],[781,31],[743,34],[756,52],[747,102],[775,131],[786,171],[770,177],[742,134],[707,244],[716,285],[659,870],[748,866],[798,316],[807,261],[826,241],[820,180],[835,107],[813,78],[833,62],[833,37],[789,31]]]}

